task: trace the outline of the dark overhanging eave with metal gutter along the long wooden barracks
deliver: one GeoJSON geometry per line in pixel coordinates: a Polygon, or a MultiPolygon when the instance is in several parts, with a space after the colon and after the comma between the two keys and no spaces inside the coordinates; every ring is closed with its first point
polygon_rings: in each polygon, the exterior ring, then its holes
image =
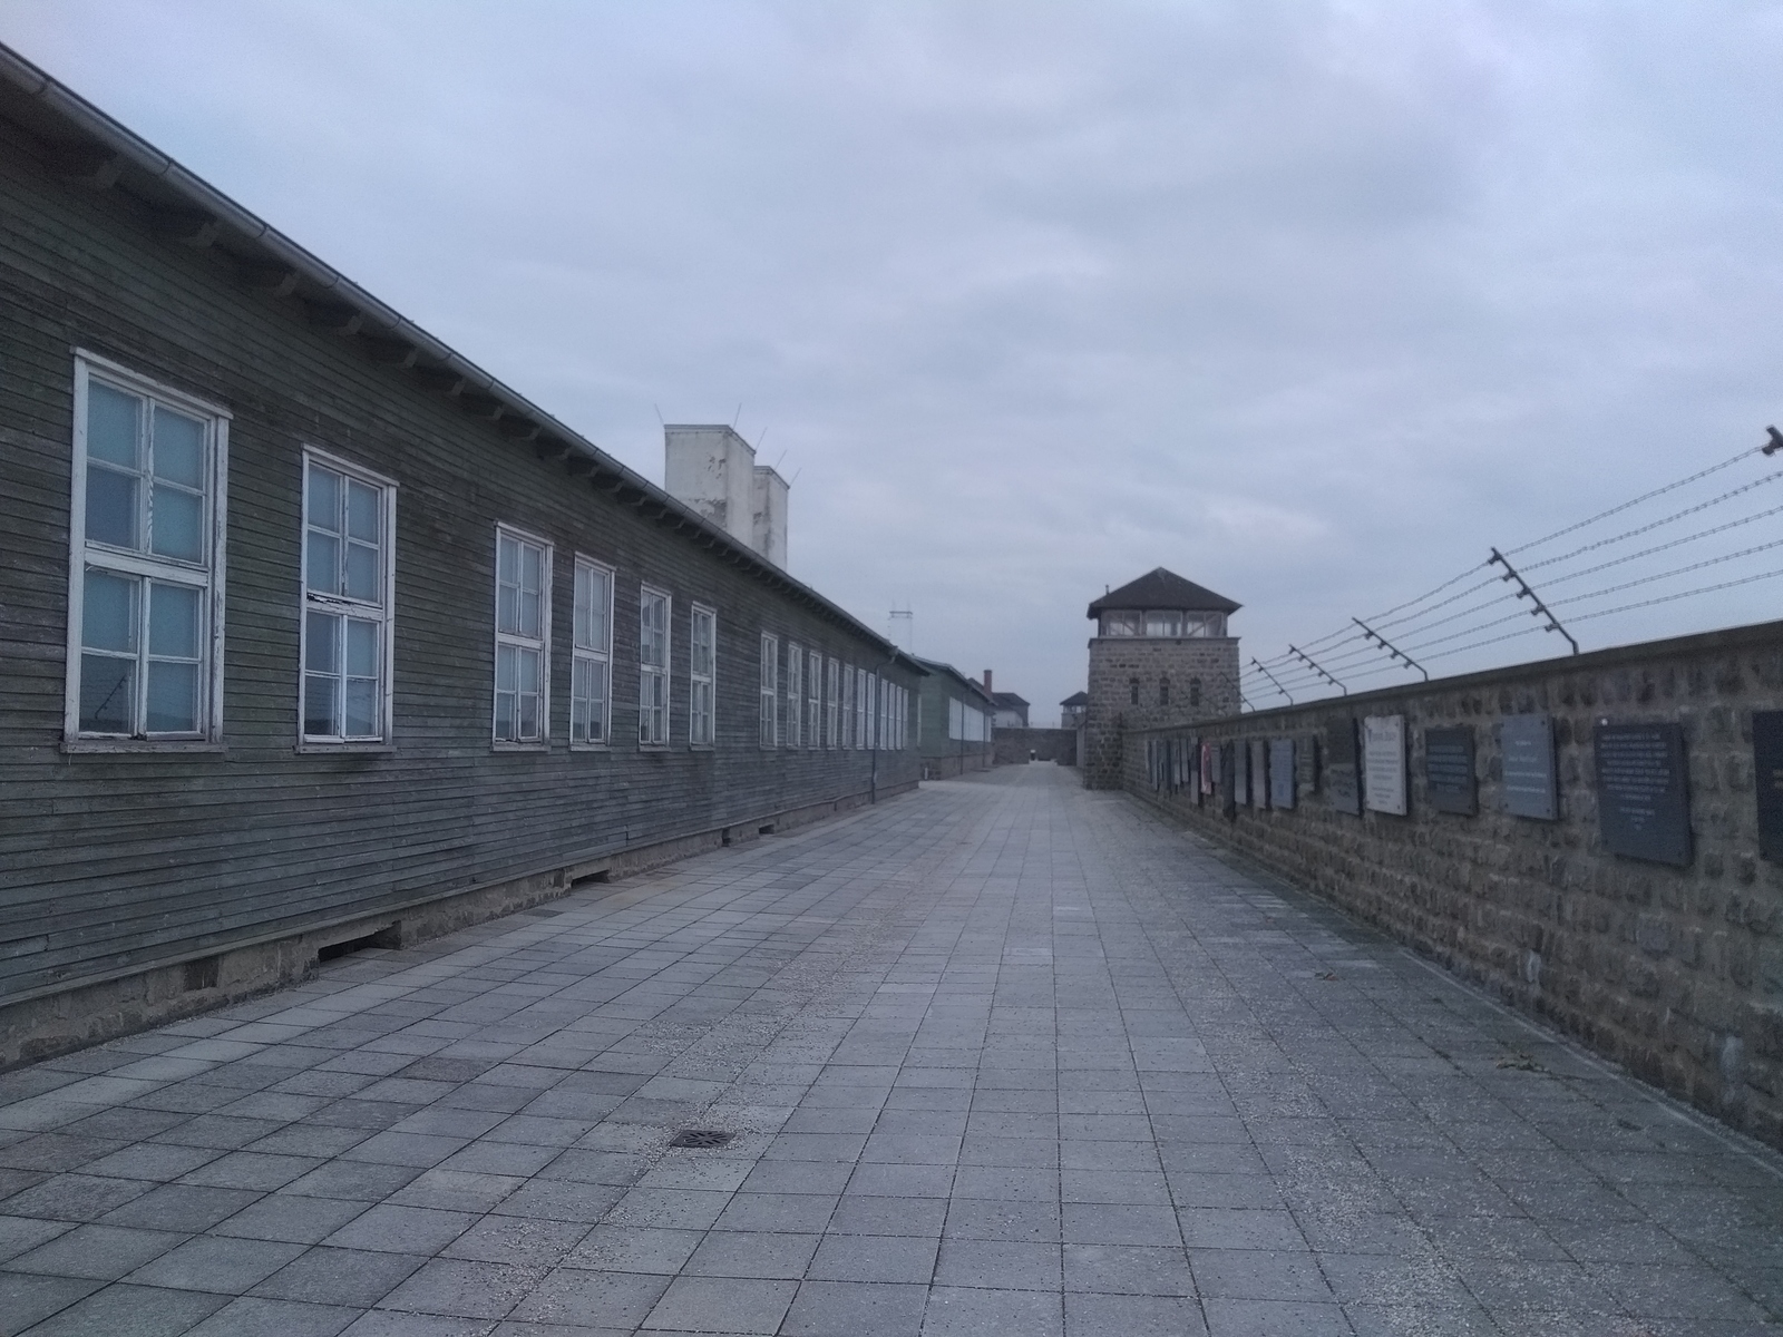
{"type": "MultiPolygon", "coordinates": [[[[797,581],[747,544],[738,542],[694,508],[683,504],[642,474],[626,467],[574,428],[538,408],[519,390],[501,383],[462,353],[448,348],[303,246],[257,217],[196,173],[182,168],[146,139],[112,119],[66,84],[57,82],[11,46],[0,43],[0,91],[16,89],[55,128],[73,139],[45,135],[43,127],[18,121],[57,159],[52,166],[64,180],[94,189],[123,185],[150,209],[166,216],[177,239],[196,248],[230,255],[242,278],[269,294],[298,298],[325,323],[392,369],[415,371],[458,401],[465,412],[485,419],[490,430],[515,444],[531,444],[540,458],[560,458],[572,478],[587,476],[601,492],[651,513],[663,528],[685,533],[690,542],[722,553],[726,562],[792,595],[811,611],[836,622],[890,652],[886,663],[902,660],[915,667],[893,642],[881,636],[840,604],[804,581],[797,581]],[[146,189],[143,189],[146,187],[146,189]]],[[[0,114],[5,109],[0,107],[0,114]]],[[[16,119],[16,118],[9,118],[16,119]]],[[[408,381],[414,385],[414,381],[408,381]]]]}

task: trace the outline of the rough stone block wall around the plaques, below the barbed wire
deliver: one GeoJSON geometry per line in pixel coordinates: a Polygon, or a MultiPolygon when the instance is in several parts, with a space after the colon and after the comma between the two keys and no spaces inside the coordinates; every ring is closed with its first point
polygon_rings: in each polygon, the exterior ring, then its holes
{"type": "Polygon", "coordinates": [[[1783,868],[1758,854],[1753,711],[1783,710],[1783,622],[1125,736],[1123,786],[1541,1016],[1637,1077],[1783,1146],[1783,868]],[[1500,724],[1553,718],[1560,818],[1503,811],[1500,724]],[[1300,767],[1293,809],[1154,788],[1148,742],[1318,740],[1403,715],[1409,813],[1339,811],[1300,767]],[[1606,852],[1592,727],[1676,722],[1689,866],[1606,852]],[[1478,816],[1434,811],[1425,729],[1471,724],[1478,816]]]}

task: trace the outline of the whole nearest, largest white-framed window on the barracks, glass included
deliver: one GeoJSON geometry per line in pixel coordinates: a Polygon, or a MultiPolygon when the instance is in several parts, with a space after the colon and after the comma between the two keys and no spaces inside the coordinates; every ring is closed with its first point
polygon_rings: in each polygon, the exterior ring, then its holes
{"type": "Polygon", "coordinates": [[[70,740],[216,740],[223,726],[228,414],[75,358],[70,740]]]}

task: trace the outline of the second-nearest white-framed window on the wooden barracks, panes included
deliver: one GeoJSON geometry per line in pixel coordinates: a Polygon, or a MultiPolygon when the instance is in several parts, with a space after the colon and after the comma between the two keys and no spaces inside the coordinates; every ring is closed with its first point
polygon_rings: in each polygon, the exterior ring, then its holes
{"type": "Polygon", "coordinates": [[[303,742],[390,736],[396,485],[303,456],[303,742]]]}

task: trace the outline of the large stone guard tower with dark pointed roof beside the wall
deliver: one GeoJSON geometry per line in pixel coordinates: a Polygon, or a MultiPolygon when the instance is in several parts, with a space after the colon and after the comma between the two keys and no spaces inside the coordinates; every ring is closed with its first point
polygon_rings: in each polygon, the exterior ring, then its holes
{"type": "Polygon", "coordinates": [[[1089,604],[1089,708],[1079,765],[1084,786],[1120,788],[1122,731],[1237,715],[1239,604],[1159,567],[1089,604]]]}

